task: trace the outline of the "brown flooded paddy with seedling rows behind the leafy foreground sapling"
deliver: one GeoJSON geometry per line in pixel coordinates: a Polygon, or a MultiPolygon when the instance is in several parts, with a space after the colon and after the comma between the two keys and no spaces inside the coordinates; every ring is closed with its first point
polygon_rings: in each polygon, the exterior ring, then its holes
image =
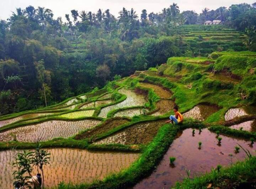
{"type": "MultiPolygon", "coordinates": [[[[45,166],[45,187],[53,187],[64,181],[75,184],[103,179],[110,173],[127,168],[139,154],[88,151],[71,148],[46,149],[50,155],[50,165],[45,166]]],[[[14,155],[22,150],[0,151],[0,188],[13,188],[14,155]]],[[[33,171],[35,175],[36,169],[33,171]]]]}

